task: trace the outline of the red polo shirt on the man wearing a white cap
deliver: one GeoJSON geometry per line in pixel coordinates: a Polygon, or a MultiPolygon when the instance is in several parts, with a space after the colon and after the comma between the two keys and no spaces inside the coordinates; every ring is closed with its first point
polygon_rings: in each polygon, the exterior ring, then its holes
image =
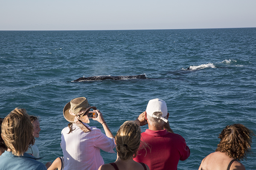
{"type": "Polygon", "coordinates": [[[185,139],[178,134],[147,129],[141,137],[150,149],[140,148],[134,161],[143,162],[153,170],[177,170],[179,160],[190,155],[185,139]]]}

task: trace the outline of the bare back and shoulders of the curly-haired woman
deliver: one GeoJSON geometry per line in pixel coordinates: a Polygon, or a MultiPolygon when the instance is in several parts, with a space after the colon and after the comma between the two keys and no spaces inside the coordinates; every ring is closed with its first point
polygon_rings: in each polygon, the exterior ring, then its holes
{"type": "Polygon", "coordinates": [[[200,170],[245,170],[245,167],[226,153],[214,152],[202,161],[200,170]]]}

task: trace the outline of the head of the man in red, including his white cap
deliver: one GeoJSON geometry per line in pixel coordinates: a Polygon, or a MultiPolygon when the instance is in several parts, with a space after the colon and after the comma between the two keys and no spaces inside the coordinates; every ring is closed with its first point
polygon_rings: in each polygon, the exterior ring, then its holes
{"type": "Polygon", "coordinates": [[[161,99],[151,99],[146,108],[146,118],[148,123],[153,126],[163,126],[167,122],[169,113],[167,111],[166,102],[161,99]]]}

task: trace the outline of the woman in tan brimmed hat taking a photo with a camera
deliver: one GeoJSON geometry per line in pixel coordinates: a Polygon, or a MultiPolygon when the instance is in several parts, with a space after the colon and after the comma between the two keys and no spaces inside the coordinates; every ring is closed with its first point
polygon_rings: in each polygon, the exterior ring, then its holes
{"type": "Polygon", "coordinates": [[[61,148],[64,156],[64,170],[98,170],[104,164],[100,149],[115,153],[116,147],[107,123],[102,113],[91,107],[85,97],[72,99],[63,109],[64,118],[70,122],[61,131],[61,148]],[[87,123],[88,111],[94,109],[98,116],[93,120],[102,124],[105,133],[87,123]]]}

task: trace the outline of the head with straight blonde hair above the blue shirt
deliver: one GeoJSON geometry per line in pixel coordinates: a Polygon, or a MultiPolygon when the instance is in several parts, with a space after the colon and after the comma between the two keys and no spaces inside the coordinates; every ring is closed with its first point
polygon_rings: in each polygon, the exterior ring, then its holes
{"type": "Polygon", "coordinates": [[[21,156],[35,143],[34,127],[25,109],[15,108],[2,123],[2,138],[15,156],[21,156]]]}

